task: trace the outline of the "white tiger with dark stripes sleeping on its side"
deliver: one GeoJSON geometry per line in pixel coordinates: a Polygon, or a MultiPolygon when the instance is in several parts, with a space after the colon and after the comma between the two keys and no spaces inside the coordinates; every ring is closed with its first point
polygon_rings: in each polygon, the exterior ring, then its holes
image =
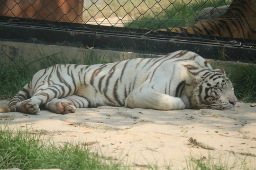
{"type": "Polygon", "coordinates": [[[125,106],[155,110],[236,110],[237,98],[223,68],[196,53],[129,59],[97,65],[55,65],[38,71],[0,112],[58,114],[76,108],[125,106]]]}

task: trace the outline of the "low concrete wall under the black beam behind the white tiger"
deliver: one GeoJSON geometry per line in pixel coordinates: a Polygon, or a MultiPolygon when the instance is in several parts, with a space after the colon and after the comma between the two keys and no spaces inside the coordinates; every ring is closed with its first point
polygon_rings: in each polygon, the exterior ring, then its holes
{"type": "MultiPolygon", "coordinates": [[[[2,64],[16,62],[21,67],[24,64],[28,64],[28,67],[36,67],[38,69],[49,67],[53,64],[63,64],[64,61],[68,64],[68,62],[72,62],[73,60],[80,64],[91,64],[152,57],[159,56],[132,52],[103,51],[56,45],[0,41],[0,62],[2,64]]],[[[208,59],[208,61],[213,67],[220,66],[230,74],[239,74],[238,70],[242,70],[248,66],[247,63],[210,59],[208,59]]]]}

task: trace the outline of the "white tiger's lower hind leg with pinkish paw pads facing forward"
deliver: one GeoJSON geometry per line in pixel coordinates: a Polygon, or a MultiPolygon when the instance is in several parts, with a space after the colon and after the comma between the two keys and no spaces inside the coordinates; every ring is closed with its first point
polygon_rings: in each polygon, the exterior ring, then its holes
{"type": "Polygon", "coordinates": [[[76,108],[87,108],[89,101],[81,96],[72,95],[62,99],[53,99],[46,103],[46,109],[58,114],[74,113],[76,108]]]}

